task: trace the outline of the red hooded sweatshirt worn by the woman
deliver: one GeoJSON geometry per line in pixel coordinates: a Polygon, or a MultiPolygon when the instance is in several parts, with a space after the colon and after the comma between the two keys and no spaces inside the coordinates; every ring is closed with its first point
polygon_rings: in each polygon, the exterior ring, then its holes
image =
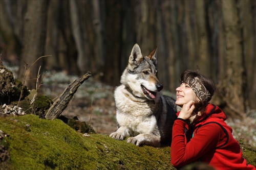
{"type": "Polygon", "coordinates": [[[177,118],[170,147],[173,166],[182,167],[201,161],[218,170],[255,169],[242,158],[240,144],[233,138],[232,129],[225,119],[224,112],[212,104],[206,106],[204,116],[196,123],[188,125],[184,119],[177,118]]]}

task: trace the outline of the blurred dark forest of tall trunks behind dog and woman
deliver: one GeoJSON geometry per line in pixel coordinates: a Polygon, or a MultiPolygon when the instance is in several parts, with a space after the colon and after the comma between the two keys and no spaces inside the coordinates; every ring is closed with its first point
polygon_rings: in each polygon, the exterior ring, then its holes
{"type": "MultiPolygon", "coordinates": [[[[212,103],[236,115],[256,108],[256,1],[1,0],[1,59],[19,65],[23,80],[40,71],[119,85],[132,47],[158,47],[158,77],[175,92],[184,69],[216,83],[212,103]],[[25,61],[25,62],[24,62],[25,61]]],[[[35,81],[26,81],[33,89],[35,81]]]]}

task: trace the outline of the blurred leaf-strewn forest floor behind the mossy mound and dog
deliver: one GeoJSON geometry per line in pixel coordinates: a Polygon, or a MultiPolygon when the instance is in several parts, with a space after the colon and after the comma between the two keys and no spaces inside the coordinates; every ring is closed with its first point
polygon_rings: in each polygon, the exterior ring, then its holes
{"type": "MultiPolygon", "coordinates": [[[[14,76],[17,67],[8,67],[14,76]]],[[[64,72],[46,72],[40,93],[54,99],[78,76],[68,76],[64,72]]],[[[96,133],[109,135],[116,131],[116,108],[114,101],[115,87],[96,81],[90,77],[78,88],[68,107],[62,112],[69,118],[77,116],[80,122],[91,125],[96,133]]],[[[226,123],[233,129],[236,139],[242,138],[245,143],[256,147],[256,113],[252,116],[233,119],[229,117],[226,123]]]]}

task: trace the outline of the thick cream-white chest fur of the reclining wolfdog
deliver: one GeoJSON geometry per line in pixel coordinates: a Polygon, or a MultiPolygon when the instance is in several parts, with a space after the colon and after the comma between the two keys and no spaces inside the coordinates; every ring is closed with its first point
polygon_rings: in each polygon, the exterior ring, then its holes
{"type": "Polygon", "coordinates": [[[157,119],[153,113],[156,105],[153,101],[145,102],[143,99],[136,98],[125,89],[124,85],[117,87],[114,95],[119,126],[129,127],[134,135],[158,130],[157,119]]]}

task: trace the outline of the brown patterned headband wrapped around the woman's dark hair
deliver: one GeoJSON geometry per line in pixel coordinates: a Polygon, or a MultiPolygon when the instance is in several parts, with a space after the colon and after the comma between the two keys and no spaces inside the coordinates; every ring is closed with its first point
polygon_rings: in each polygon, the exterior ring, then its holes
{"type": "Polygon", "coordinates": [[[199,79],[192,78],[191,81],[187,79],[184,83],[188,84],[193,89],[199,100],[201,100],[203,103],[208,103],[211,100],[209,91],[199,79]]]}

